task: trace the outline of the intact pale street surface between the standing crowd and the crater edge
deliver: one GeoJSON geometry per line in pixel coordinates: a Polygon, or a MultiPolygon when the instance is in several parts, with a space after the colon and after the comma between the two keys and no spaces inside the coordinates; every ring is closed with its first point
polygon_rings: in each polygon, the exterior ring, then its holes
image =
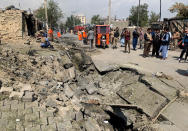
{"type": "Polygon", "coordinates": [[[178,62],[177,59],[180,52],[169,51],[168,59],[164,61],[155,57],[143,58],[143,50],[140,49],[137,51],[131,50],[130,54],[124,53],[124,47],[119,47],[117,50],[111,48],[99,50],[100,53],[92,56],[93,60],[101,61],[107,65],[134,64],[150,73],[163,72],[172,76],[183,84],[184,87],[188,88],[188,76],[185,76],[186,70],[188,69],[188,62],[178,62]]]}

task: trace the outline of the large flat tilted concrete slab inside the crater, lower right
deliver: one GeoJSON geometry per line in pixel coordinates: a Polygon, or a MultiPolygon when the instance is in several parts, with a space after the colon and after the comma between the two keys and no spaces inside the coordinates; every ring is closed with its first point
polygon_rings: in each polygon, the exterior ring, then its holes
{"type": "Polygon", "coordinates": [[[135,83],[121,88],[117,94],[133,105],[137,105],[143,111],[153,117],[158,109],[166,103],[166,98],[149,90],[142,83],[135,83]]]}

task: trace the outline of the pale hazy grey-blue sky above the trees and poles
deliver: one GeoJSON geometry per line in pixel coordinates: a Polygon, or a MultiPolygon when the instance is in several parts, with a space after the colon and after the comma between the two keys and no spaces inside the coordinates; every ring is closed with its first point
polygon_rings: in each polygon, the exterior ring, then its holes
{"type": "MultiPolygon", "coordinates": [[[[83,14],[87,21],[93,15],[100,14],[102,17],[108,16],[109,0],[54,0],[59,4],[65,18],[71,14],[83,14]]],[[[42,5],[44,0],[0,0],[0,8],[8,5],[15,5],[24,10],[35,10],[42,5]]],[[[170,18],[176,14],[169,12],[169,8],[175,2],[182,2],[188,5],[188,0],[162,0],[162,18],[170,18]]],[[[138,5],[139,0],[112,0],[112,16],[118,19],[127,18],[132,6],[138,5]]],[[[160,0],[141,0],[141,4],[147,3],[149,11],[159,13],[160,0]]]]}

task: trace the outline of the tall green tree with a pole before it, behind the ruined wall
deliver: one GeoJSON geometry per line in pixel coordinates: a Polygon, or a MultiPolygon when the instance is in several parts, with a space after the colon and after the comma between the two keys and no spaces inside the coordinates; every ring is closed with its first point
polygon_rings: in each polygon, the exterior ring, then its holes
{"type": "MultiPolygon", "coordinates": [[[[50,0],[48,2],[47,11],[48,11],[49,26],[52,28],[58,27],[58,22],[63,17],[63,13],[62,13],[61,9],[59,8],[58,3],[55,2],[54,0],[50,0]]],[[[34,14],[39,20],[46,22],[45,9],[44,9],[43,5],[39,9],[37,9],[34,12],[34,14]]]]}

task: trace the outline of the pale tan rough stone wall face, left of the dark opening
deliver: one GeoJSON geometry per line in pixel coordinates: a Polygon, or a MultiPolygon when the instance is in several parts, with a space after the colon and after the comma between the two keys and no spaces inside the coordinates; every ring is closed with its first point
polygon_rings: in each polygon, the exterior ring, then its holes
{"type": "Polygon", "coordinates": [[[2,40],[22,39],[23,11],[0,10],[0,33],[2,40]]]}

